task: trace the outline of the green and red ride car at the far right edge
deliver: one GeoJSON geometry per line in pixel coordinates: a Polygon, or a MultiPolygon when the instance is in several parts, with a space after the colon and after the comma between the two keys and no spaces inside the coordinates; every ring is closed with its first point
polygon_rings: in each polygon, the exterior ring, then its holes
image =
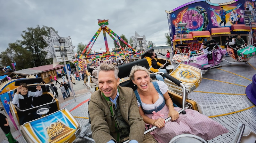
{"type": "MultiPolygon", "coordinates": [[[[227,52],[234,60],[236,60],[234,62],[248,63],[249,59],[256,55],[256,47],[252,45],[246,45],[246,43],[244,45],[241,45],[240,47],[237,47],[236,44],[231,45],[232,39],[234,38],[236,38],[236,36],[232,36],[228,38],[228,43],[226,43],[227,52]]],[[[228,63],[233,63],[233,62],[228,62],[228,63]]]]}

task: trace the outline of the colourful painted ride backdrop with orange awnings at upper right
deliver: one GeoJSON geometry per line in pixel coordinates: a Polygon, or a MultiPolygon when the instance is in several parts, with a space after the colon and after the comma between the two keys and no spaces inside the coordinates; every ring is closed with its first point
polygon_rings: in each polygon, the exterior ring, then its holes
{"type": "Polygon", "coordinates": [[[166,11],[172,48],[188,44],[198,50],[203,41],[215,39],[224,48],[227,37],[240,34],[247,44],[256,46],[254,0],[233,0],[214,4],[195,0],[166,11]]]}

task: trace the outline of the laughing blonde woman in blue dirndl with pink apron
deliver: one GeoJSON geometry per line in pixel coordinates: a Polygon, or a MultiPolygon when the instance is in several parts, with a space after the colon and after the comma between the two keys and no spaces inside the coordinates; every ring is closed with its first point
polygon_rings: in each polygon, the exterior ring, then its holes
{"type": "Polygon", "coordinates": [[[177,111],[181,108],[173,107],[167,85],[162,81],[152,82],[145,67],[133,66],[130,78],[134,86],[138,87],[134,92],[140,115],[147,129],[151,126],[158,127],[151,134],[159,143],[168,143],[173,137],[185,133],[210,140],[228,132],[221,124],[196,110],[187,109],[186,114],[179,115],[177,111]],[[168,117],[172,117],[172,122],[164,124],[168,117]]]}

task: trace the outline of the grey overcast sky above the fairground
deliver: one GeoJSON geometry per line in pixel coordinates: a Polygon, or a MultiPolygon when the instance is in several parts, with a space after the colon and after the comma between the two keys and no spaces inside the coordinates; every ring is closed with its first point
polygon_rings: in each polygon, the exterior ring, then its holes
{"type": "MultiPolygon", "coordinates": [[[[8,43],[22,40],[27,27],[53,27],[61,37],[71,36],[73,46],[79,42],[88,44],[99,29],[97,19],[108,19],[108,27],[117,35],[129,40],[135,31],[146,35],[147,41],[156,46],[166,45],[164,33],[168,33],[165,10],[188,3],[191,0],[0,0],[0,52],[8,43]]],[[[231,0],[211,0],[224,3],[231,0]]],[[[113,40],[107,36],[109,49],[113,40]]],[[[92,47],[96,52],[105,49],[100,33],[92,47]]]]}

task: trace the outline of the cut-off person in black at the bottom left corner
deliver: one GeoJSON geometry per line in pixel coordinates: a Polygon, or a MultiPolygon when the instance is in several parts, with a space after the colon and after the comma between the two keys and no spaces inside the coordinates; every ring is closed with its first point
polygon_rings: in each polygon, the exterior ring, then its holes
{"type": "Polygon", "coordinates": [[[13,138],[8,119],[2,113],[0,113],[0,127],[4,131],[4,134],[7,137],[9,143],[19,143],[16,139],[13,138]]]}

